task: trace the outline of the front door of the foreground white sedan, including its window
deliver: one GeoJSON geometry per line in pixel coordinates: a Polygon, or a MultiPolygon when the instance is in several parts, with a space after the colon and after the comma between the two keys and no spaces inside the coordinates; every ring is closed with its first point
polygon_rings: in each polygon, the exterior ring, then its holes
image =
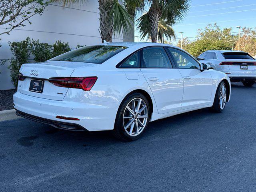
{"type": "Polygon", "coordinates": [[[200,64],[186,52],[168,48],[176,67],[184,79],[182,110],[210,104],[212,76],[210,71],[200,70],[200,64]]]}

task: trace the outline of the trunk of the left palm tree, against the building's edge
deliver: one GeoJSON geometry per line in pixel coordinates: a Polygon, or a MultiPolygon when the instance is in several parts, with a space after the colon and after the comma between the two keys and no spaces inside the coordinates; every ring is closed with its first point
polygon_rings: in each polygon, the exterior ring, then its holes
{"type": "Polygon", "coordinates": [[[100,37],[102,43],[104,40],[112,42],[113,36],[113,18],[109,13],[111,0],[98,0],[100,10],[100,37]]]}

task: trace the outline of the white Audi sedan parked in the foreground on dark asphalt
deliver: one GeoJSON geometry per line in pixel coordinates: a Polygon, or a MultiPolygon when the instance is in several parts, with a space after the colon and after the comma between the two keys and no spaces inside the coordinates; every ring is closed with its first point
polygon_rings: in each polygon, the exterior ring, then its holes
{"type": "Polygon", "coordinates": [[[148,122],[210,107],[224,110],[230,80],[178,47],[158,43],[85,46],[23,64],[16,114],[66,130],[112,130],[138,139],[148,122]]]}

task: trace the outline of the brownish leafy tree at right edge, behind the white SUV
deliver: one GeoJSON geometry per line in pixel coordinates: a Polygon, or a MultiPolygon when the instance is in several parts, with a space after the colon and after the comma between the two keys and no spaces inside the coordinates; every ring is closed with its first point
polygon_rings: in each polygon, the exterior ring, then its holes
{"type": "MultiPolygon", "coordinates": [[[[252,28],[243,28],[240,37],[240,50],[248,52],[251,56],[256,56],[256,32],[252,28]]],[[[235,50],[238,50],[238,40],[235,50]]]]}

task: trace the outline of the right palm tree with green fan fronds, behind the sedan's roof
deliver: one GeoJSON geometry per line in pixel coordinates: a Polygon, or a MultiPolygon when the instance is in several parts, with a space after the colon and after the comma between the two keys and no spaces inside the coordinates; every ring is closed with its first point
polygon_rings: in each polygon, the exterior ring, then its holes
{"type": "Polygon", "coordinates": [[[180,22],[186,15],[189,9],[190,0],[134,0],[136,6],[128,7],[125,9],[130,15],[134,12],[144,12],[145,8],[149,7],[148,12],[138,18],[138,29],[144,35],[148,33],[150,28],[150,37],[152,42],[157,41],[158,24],[164,22],[166,25],[171,26],[180,22]]]}

